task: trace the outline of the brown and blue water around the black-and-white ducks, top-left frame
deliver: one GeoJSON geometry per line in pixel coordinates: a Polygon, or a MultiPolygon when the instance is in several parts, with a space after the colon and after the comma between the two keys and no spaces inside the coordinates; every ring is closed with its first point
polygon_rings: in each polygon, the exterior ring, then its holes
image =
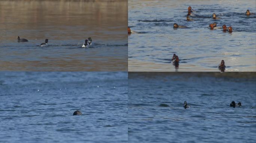
{"type": "Polygon", "coordinates": [[[3,0],[0,31],[1,71],[127,71],[126,0],[3,0]]]}

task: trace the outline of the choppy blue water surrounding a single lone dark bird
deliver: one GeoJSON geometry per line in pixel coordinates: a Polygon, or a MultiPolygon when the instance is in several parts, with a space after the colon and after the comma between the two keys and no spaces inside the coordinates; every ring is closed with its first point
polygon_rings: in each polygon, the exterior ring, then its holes
{"type": "Polygon", "coordinates": [[[0,72],[0,98],[1,142],[127,142],[127,72],[0,72]]]}

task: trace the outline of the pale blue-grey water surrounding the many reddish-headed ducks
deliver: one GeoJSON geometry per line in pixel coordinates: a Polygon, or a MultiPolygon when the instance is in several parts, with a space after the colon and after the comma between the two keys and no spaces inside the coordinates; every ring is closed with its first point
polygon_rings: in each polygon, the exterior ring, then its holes
{"type": "Polygon", "coordinates": [[[256,71],[255,0],[128,1],[128,26],[140,34],[128,36],[129,71],[256,71]],[[186,21],[188,6],[194,21],[186,21]],[[246,16],[249,9],[253,15],[246,16]],[[214,20],[216,13],[221,19],[214,20]],[[232,26],[233,32],[210,30],[210,23],[232,26]],[[173,24],[187,29],[173,29],[173,24]],[[173,54],[179,68],[171,64],[173,54]]]}

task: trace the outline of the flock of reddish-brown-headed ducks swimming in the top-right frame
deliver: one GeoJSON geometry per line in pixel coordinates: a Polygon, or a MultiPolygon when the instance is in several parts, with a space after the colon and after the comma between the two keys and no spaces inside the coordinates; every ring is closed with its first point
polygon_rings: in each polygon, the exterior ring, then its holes
{"type": "MultiPolygon", "coordinates": [[[[188,14],[187,14],[187,21],[193,21],[193,19],[189,18],[189,16],[192,16],[192,12],[193,12],[192,7],[189,6],[189,7],[188,7],[188,14]]],[[[247,11],[246,11],[246,15],[247,15],[247,16],[249,16],[249,15],[251,15],[251,14],[252,14],[252,13],[250,13],[250,10],[247,10],[247,11]]],[[[216,17],[216,14],[213,13],[213,19],[220,19],[220,18],[217,18],[217,17],[216,17]]],[[[224,32],[225,32],[225,31],[229,31],[229,33],[232,33],[232,27],[229,26],[229,27],[227,28],[227,26],[226,26],[225,24],[222,25],[222,28],[221,28],[221,27],[217,27],[217,23],[214,22],[214,23],[211,23],[208,27],[209,27],[211,30],[212,30],[212,29],[223,29],[224,32]]],[[[174,23],[174,24],[173,24],[173,28],[176,29],[176,28],[188,28],[188,27],[187,27],[187,26],[183,26],[183,25],[178,25],[177,23],[174,23]]],[[[135,33],[138,33],[138,32],[132,31],[131,28],[128,27],[128,34],[129,34],[129,35],[130,35],[130,34],[135,34],[135,33]]],[[[173,54],[173,58],[171,59],[171,61],[173,61],[173,64],[174,64],[174,66],[175,66],[176,68],[179,67],[179,57],[178,57],[176,54],[173,54]]],[[[221,62],[220,62],[220,64],[219,64],[218,68],[219,68],[219,70],[222,71],[222,72],[225,71],[226,66],[225,66],[225,61],[224,61],[224,60],[221,60],[221,62]]],[[[186,101],[185,101],[185,102],[186,102],[186,101]]],[[[184,104],[185,104],[185,102],[184,102],[184,104]]]]}

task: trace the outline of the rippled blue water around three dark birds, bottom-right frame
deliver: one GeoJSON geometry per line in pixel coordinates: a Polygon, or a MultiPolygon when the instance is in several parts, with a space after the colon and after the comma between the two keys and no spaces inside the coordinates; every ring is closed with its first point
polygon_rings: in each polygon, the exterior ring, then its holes
{"type": "Polygon", "coordinates": [[[255,76],[144,74],[128,75],[129,142],[255,143],[255,76]],[[232,101],[243,107],[229,107],[232,101]]]}

